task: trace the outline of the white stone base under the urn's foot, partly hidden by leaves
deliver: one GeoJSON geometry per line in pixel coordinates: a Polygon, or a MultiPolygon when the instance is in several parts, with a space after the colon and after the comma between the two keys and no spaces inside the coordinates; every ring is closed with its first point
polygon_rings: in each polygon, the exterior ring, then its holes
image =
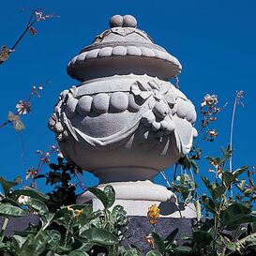
{"type": "MultiPolygon", "coordinates": [[[[113,186],[116,193],[114,205],[122,205],[128,216],[145,217],[148,208],[152,204],[157,204],[160,209],[160,218],[196,218],[193,203],[189,203],[187,207],[183,204],[178,205],[173,192],[149,180],[100,184],[98,188],[103,189],[106,185],[113,186]]],[[[80,195],[77,203],[92,203],[95,211],[104,208],[103,204],[89,191],[80,195]]]]}

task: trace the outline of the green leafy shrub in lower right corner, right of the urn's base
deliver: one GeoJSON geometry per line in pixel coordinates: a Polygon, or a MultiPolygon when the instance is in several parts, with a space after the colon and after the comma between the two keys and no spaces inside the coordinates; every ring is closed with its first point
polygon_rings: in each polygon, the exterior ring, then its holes
{"type": "Polygon", "coordinates": [[[210,216],[204,221],[197,219],[193,228],[189,246],[196,255],[224,256],[256,252],[256,233],[253,229],[256,215],[252,211],[255,192],[250,181],[252,179],[248,166],[233,172],[225,169],[231,156],[232,150],[228,146],[227,149],[222,148],[221,158],[206,157],[212,166],[209,172],[214,173],[215,177],[214,180],[202,177],[208,193],[200,196],[198,203],[202,204],[201,207],[210,216]],[[244,173],[248,173],[248,184],[246,179],[240,180],[244,173]],[[235,187],[238,191],[233,198],[235,187]]]}

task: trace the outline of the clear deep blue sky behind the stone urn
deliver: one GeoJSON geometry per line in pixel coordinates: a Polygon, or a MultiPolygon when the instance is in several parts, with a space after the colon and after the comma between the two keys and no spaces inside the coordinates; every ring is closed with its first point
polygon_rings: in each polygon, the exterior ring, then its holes
{"type": "MultiPolygon", "coordinates": [[[[22,8],[45,8],[60,18],[38,23],[38,35],[26,35],[15,53],[0,66],[0,121],[6,121],[8,111],[14,112],[16,103],[27,98],[32,85],[52,83],[41,92],[41,98],[32,100],[32,113],[23,118],[24,150],[20,134],[10,126],[0,129],[1,175],[8,179],[24,176],[26,169],[37,167],[35,151],[47,150],[55,143],[47,128],[48,118],[59,93],[78,84],[66,73],[68,61],[108,28],[114,14],[135,16],[139,28],[180,60],[180,88],[197,108],[206,93],[218,95],[220,105],[228,102],[213,127],[219,132],[216,143],[202,144],[204,156],[217,156],[219,146],[229,143],[235,91],[245,92],[245,106],[238,106],[235,116],[233,167],[256,164],[255,1],[8,0],[1,3],[0,45],[11,47],[22,33],[29,16],[28,11],[21,12],[22,8]]],[[[207,167],[206,162],[201,164],[201,174],[206,174],[207,167]]],[[[97,184],[97,179],[88,173],[83,180],[87,186],[97,184]]],[[[156,182],[164,184],[160,176],[156,182]]]]}

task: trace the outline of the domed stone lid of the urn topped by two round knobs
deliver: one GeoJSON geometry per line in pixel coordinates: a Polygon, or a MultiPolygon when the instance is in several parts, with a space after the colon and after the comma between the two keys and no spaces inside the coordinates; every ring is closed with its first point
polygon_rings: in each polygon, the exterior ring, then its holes
{"type": "Polygon", "coordinates": [[[179,61],[138,29],[131,15],[114,15],[110,28],[68,63],[68,75],[81,82],[124,74],[168,81],[180,72],[179,61]]]}

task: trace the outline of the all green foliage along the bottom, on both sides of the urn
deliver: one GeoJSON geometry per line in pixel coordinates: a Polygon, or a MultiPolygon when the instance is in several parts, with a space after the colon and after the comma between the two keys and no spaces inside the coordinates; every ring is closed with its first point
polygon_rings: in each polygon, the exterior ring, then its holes
{"type": "MultiPolygon", "coordinates": [[[[222,148],[221,158],[206,157],[211,165],[210,173],[214,173],[214,179],[202,177],[206,194],[197,194],[197,184],[191,174],[183,173],[173,180],[173,190],[181,195],[182,201],[188,203],[193,200],[195,205],[197,219],[193,234],[177,243],[178,229],[165,239],[152,232],[153,248],[146,256],[256,253],[256,213],[252,210],[256,188],[248,166],[233,172],[226,170],[226,161],[231,154],[228,146],[227,149],[222,148]],[[234,198],[232,188],[237,189],[234,198]],[[207,218],[202,218],[203,214],[207,214],[207,218]]],[[[143,256],[137,248],[121,246],[126,239],[128,218],[123,206],[114,205],[113,187],[106,186],[102,190],[88,188],[103,205],[102,210],[93,211],[90,204],[75,204],[75,197],[72,200],[61,198],[65,192],[73,196],[74,190],[68,189],[77,167],[58,159],[58,164],[51,164],[50,168],[53,171],[40,176],[56,186],[48,195],[35,188],[14,189],[21,183],[20,177],[14,181],[0,178],[4,191],[0,203],[0,216],[4,218],[0,253],[5,252],[9,256],[143,256]],[[27,213],[37,213],[39,225],[6,236],[4,231],[8,227],[8,219],[23,217],[27,213]]]]}

